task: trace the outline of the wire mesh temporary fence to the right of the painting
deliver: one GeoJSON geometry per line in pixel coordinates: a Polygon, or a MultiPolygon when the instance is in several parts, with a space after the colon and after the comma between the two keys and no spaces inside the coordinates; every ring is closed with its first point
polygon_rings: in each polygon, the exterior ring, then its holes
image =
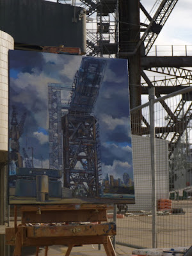
{"type": "Polygon", "coordinates": [[[136,204],[117,205],[116,243],[191,246],[192,88],[131,111],[136,204]]]}

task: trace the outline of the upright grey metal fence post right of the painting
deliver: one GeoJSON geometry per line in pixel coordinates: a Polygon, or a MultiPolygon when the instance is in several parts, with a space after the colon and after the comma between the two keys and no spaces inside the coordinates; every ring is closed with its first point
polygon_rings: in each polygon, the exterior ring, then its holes
{"type": "Polygon", "coordinates": [[[156,132],[154,122],[155,88],[148,88],[150,112],[150,157],[152,170],[152,248],[157,247],[157,198],[156,198],[156,132]]]}

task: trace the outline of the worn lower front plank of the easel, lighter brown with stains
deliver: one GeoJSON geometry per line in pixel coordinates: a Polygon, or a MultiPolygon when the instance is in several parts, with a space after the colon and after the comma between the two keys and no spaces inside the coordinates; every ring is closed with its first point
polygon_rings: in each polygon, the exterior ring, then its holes
{"type": "Polygon", "coordinates": [[[27,228],[27,237],[65,237],[65,236],[115,236],[116,225],[104,223],[97,225],[33,226],[27,228]]]}

